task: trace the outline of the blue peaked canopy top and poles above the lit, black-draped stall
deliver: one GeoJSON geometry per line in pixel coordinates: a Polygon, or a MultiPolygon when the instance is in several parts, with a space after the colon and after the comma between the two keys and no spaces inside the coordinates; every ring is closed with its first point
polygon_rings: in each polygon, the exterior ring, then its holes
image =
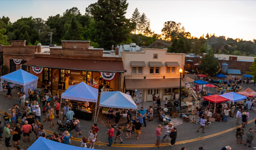
{"type": "MultiPolygon", "coordinates": [[[[85,82],[80,82],[76,85],[70,85],[62,94],[62,99],[79,100],[96,102],[95,110],[97,109],[98,89],[87,85],[85,82]]],[[[95,113],[96,117],[96,113],[95,113]]],[[[95,119],[94,117],[94,119],[95,119]]]]}

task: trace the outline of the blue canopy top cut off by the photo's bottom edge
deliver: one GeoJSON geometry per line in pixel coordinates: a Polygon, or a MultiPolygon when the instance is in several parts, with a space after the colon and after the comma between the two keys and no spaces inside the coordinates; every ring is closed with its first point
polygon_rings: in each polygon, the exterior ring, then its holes
{"type": "MultiPolygon", "coordinates": [[[[39,137],[27,150],[91,150],[39,137]]],[[[96,149],[95,149],[96,150],[96,149]]]]}

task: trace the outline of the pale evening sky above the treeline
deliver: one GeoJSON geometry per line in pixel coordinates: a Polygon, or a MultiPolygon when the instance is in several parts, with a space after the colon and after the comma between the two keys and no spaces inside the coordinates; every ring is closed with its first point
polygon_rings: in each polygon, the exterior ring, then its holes
{"type": "MultiPolygon", "coordinates": [[[[256,39],[256,0],[127,0],[126,17],[135,8],[150,19],[151,29],[160,34],[164,22],[181,23],[194,37],[206,33],[226,38],[256,39]]],[[[82,14],[96,0],[0,0],[0,17],[11,22],[21,17],[43,18],[77,7],[82,14]]]]}

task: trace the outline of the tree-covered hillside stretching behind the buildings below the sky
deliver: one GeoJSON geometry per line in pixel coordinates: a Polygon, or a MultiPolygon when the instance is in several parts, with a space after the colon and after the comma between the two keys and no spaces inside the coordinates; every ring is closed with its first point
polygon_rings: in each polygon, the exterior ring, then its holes
{"type": "Polygon", "coordinates": [[[85,8],[81,14],[78,8],[67,9],[62,15],[41,18],[21,18],[11,23],[6,16],[0,18],[0,44],[9,45],[11,40],[26,40],[27,45],[61,45],[62,40],[90,40],[91,46],[110,49],[112,45],[136,43],[149,46],[156,39],[171,41],[169,52],[202,54],[213,53],[233,55],[256,55],[256,40],[226,38],[207,33],[199,38],[186,32],[181,23],[166,21],[161,34],[151,30],[150,19],[136,8],[131,18],[126,18],[126,0],[98,0],[85,8]]]}

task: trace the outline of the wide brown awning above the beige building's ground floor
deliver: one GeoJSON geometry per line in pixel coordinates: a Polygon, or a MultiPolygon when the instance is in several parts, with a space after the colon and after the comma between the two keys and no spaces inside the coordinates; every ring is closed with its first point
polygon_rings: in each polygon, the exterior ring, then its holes
{"type": "MultiPolygon", "coordinates": [[[[181,86],[185,87],[183,81],[181,86]]],[[[126,89],[167,89],[180,87],[180,78],[126,79],[126,89]]]]}

